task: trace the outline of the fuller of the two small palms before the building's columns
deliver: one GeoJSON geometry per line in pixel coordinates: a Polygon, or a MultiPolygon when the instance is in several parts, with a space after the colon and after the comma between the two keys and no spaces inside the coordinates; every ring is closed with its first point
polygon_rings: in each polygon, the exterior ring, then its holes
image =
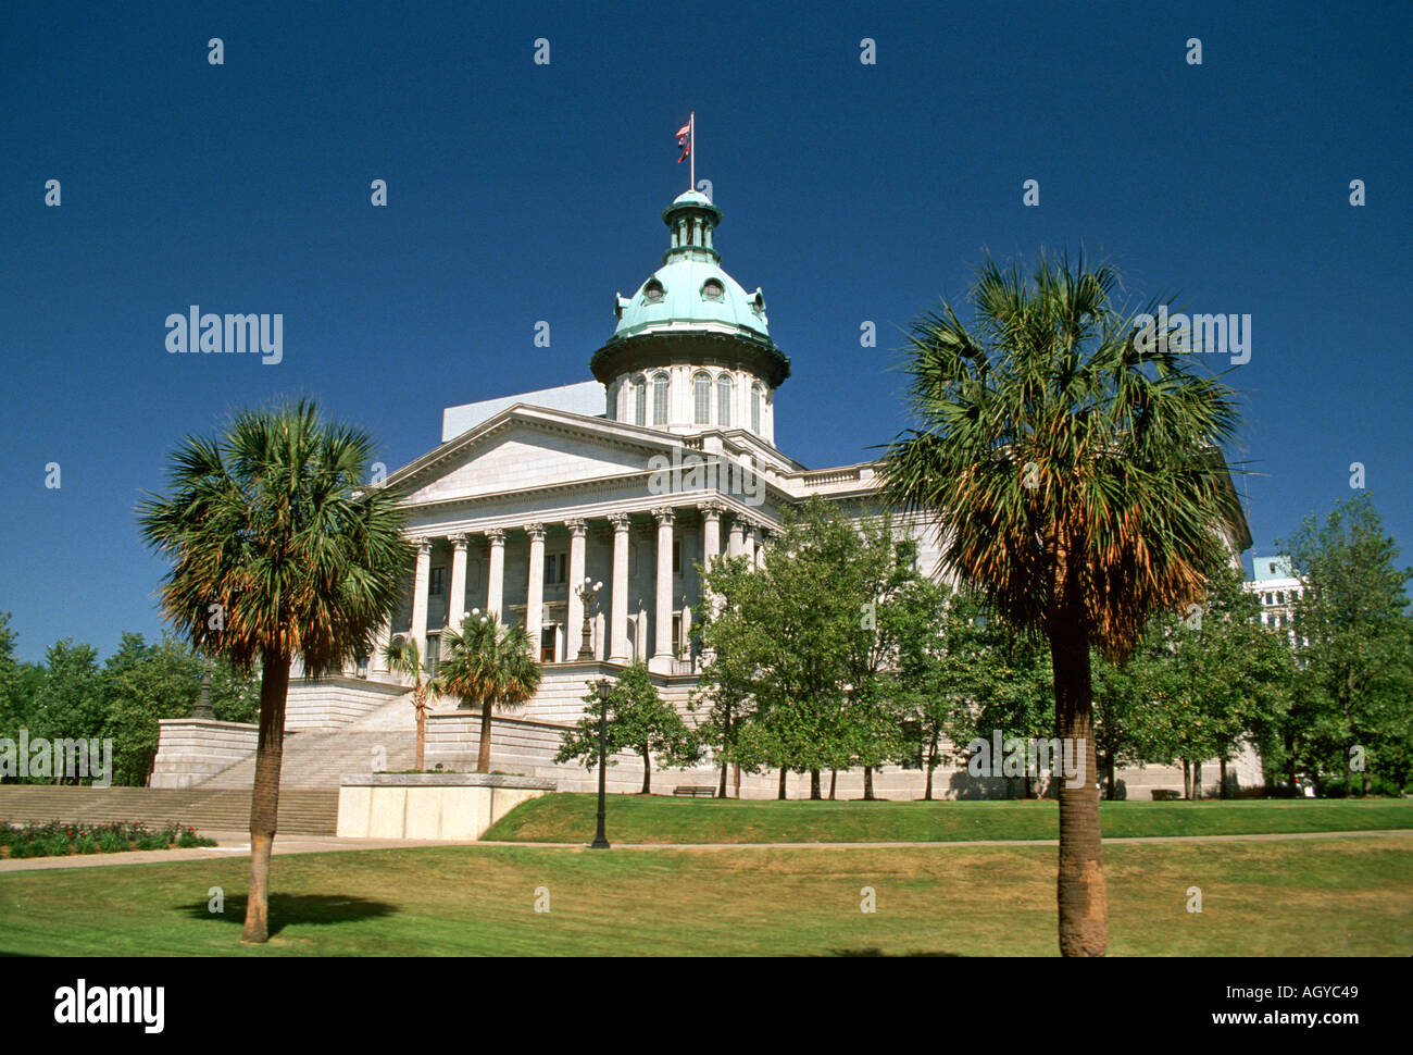
{"type": "Polygon", "coordinates": [[[480,751],[476,772],[490,772],[490,716],[496,706],[519,707],[540,687],[541,668],[523,626],[507,626],[495,612],[473,610],[461,632],[447,631],[447,658],[438,666],[442,684],[463,706],[480,704],[480,751]]]}

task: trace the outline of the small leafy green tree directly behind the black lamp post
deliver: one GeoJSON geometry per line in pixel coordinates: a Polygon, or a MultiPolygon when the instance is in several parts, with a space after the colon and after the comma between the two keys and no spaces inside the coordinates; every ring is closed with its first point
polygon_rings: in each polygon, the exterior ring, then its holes
{"type": "MultiPolygon", "coordinates": [[[[578,759],[591,771],[599,764],[599,713],[602,701],[593,686],[584,694],[584,717],[565,730],[557,762],[578,759]]],[[[692,765],[701,758],[701,741],[677,709],[657,694],[646,663],[633,663],[609,690],[605,735],[606,764],[616,765],[619,751],[643,758],[643,795],[653,791],[653,759],[658,768],[692,765]]]]}

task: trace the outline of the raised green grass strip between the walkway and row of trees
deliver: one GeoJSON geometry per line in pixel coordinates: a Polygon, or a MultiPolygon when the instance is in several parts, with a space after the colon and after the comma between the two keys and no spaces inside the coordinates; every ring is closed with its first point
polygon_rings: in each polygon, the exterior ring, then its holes
{"type": "MultiPolygon", "coordinates": [[[[593,795],[545,795],[485,839],[588,843],[593,795]]],[[[1054,802],[770,802],[612,795],[610,843],[920,843],[1057,839],[1054,802]]],[[[1218,836],[1413,829],[1413,800],[1106,802],[1104,834],[1218,836]]]]}

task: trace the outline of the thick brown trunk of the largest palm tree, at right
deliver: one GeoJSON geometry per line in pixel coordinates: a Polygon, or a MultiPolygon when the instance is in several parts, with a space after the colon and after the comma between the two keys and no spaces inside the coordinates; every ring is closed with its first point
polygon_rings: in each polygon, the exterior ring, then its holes
{"type": "Polygon", "coordinates": [[[1099,834],[1098,758],[1094,750],[1094,683],[1088,631],[1071,612],[1048,621],[1056,683],[1056,727],[1061,744],[1080,755],[1080,783],[1060,782],[1060,955],[1104,956],[1109,904],[1099,834]]]}

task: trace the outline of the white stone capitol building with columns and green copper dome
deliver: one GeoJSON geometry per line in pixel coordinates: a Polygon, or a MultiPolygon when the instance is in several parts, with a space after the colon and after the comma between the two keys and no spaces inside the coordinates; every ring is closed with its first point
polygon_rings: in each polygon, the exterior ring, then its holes
{"type": "MultiPolygon", "coordinates": [[[[383,485],[408,513],[415,567],[366,662],[341,677],[291,682],[287,785],[302,779],[301,745],[322,752],[305,771],[328,771],[329,758],[342,758],[350,772],[366,772],[370,754],[374,768],[410,768],[413,709],[382,646],[415,638],[434,663],[449,628],[468,614],[495,612],[526,628],[543,680],[524,707],[497,713],[493,769],[588,791],[588,771],[552,757],[564,728],[582,716],[589,684],[642,660],[660,694],[694,721],[688,700],[704,669],[691,625],[702,595],[699,564],[722,553],[759,561],[784,511],[811,496],[853,518],[883,511],[876,464],[811,470],[776,447],[776,393],[791,362],[771,338],[764,293],[747,291],[722,269],[721,209],[687,191],[661,216],[661,266],[632,294],[615,297],[613,332],[592,354],[592,379],[447,407],[441,444],[387,475],[383,485]],[[585,594],[577,588],[585,580],[599,588],[585,594]]],[[[918,567],[935,567],[928,526],[916,518],[897,523],[916,539],[918,567]]],[[[1245,525],[1231,540],[1239,561],[1251,544],[1245,525]]],[[[240,762],[249,762],[253,733],[223,725],[230,724],[162,723],[153,785],[246,779],[240,762]]],[[[473,767],[479,716],[437,700],[427,735],[428,768],[473,767]]],[[[1149,798],[1143,786],[1171,788],[1176,772],[1150,767],[1121,778],[1133,788],[1130,798],[1149,798]]],[[[1239,761],[1236,772],[1243,783],[1260,775],[1255,758],[1239,761]]],[[[937,771],[941,795],[958,774],[937,771]]],[[[617,791],[636,791],[642,762],[623,755],[609,779],[617,791]]],[[[791,775],[791,798],[808,793],[807,781],[791,775]]],[[[917,798],[923,781],[917,769],[890,765],[875,788],[880,796],[917,798]]],[[[715,782],[708,759],[668,771],[658,783],[715,782]]],[[[861,789],[861,772],[839,775],[841,796],[861,789]]],[[[742,796],[776,791],[773,774],[739,778],[742,796]]]]}

